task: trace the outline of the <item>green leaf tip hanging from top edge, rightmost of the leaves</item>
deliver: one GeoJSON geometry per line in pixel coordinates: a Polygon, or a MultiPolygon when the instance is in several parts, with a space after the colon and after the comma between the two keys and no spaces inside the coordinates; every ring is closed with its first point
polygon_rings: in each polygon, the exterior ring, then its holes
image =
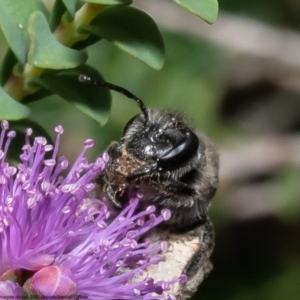
{"type": "Polygon", "coordinates": [[[172,0],[191,13],[212,24],[218,15],[218,0],[172,0]]]}

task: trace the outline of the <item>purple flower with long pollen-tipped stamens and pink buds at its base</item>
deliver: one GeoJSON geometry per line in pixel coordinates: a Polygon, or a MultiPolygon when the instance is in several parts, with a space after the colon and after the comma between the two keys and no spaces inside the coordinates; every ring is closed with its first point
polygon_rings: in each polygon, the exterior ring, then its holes
{"type": "Polygon", "coordinates": [[[155,207],[137,212],[139,198],[115,218],[104,202],[91,196],[93,180],[105,168],[105,153],[93,163],[84,158],[87,140],[70,168],[43,137],[25,145],[17,167],[6,160],[15,132],[2,121],[0,135],[0,295],[71,296],[88,299],[174,299],[169,282],[142,280],[143,270],[162,260],[166,243],[140,239],[170,217],[155,207]],[[47,158],[46,158],[47,157],[47,158]]]}

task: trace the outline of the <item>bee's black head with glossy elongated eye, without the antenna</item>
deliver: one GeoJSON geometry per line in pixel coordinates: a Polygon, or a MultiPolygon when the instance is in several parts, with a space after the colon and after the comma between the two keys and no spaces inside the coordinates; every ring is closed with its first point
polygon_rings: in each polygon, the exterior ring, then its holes
{"type": "Polygon", "coordinates": [[[198,152],[199,139],[179,116],[148,110],[132,118],[123,131],[126,150],[141,161],[156,164],[158,171],[175,170],[188,163],[198,152]]]}

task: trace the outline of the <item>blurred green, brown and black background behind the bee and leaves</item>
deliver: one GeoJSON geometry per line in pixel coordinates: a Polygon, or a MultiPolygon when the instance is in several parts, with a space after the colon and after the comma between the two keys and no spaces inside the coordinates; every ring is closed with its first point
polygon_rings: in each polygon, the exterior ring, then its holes
{"type": "MultiPolygon", "coordinates": [[[[210,210],[214,269],[193,299],[298,300],[300,2],[219,3],[210,26],[169,1],[136,0],[163,32],[163,69],[105,41],[89,49],[89,64],[148,107],[183,111],[220,149],[221,183],[210,210]]],[[[61,152],[71,160],[90,137],[95,158],[138,113],[117,93],[103,128],[58,97],[30,106],[32,119],[50,134],[64,126],[61,152]]]]}

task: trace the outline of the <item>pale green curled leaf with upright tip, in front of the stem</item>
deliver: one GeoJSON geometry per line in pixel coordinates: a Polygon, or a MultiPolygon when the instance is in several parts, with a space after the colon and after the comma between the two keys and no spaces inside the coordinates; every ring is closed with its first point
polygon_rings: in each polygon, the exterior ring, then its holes
{"type": "Polygon", "coordinates": [[[45,69],[71,69],[87,60],[86,53],[65,47],[54,38],[45,16],[40,12],[30,16],[28,31],[28,63],[31,65],[45,69]]]}

